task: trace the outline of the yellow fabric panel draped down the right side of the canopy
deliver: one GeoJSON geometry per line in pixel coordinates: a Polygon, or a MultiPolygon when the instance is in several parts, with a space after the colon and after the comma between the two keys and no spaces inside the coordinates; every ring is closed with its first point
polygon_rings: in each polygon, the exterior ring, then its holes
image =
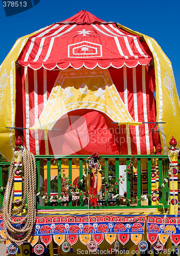
{"type": "Polygon", "coordinates": [[[120,24],[118,24],[118,26],[128,32],[143,36],[153,54],[156,75],[157,121],[166,122],[159,124],[158,126],[160,130],[163,154],[167,154],[169,141],[172,136],[177,140],[177,145],[180,144],[179,97],[177,94],[171,62],[155,39],[128,29],[120,24]]]}

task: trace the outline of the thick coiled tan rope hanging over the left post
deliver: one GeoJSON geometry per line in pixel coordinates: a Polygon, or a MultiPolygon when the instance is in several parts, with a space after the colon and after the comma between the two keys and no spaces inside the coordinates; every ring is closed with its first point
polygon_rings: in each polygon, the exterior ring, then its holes
{"type": "Polygon", "coordinates": [[[31,236],[33,226],[36,222],[36,207],[35,207],[35,182],[36,182],[36,160],[34,155],[24,148],[22,151],[15,151],[15,156],[18,156],[15,166],[13,157],[10,165],[9,178],[6,186],[6,191],[3,200],[3,225],[7,238],[11,242],[24,242],[31,236]],[[21,200],[14,201],[14,173],[21,161],[24,171],[24,186],[23,197],[21,200]],[[27,198],[27,215],[20,221],[13,221],[12,215],[18,215],[22,212],[27,198]],[[21,203],[18,208],[13,209],[14,204],[21,203]],[[24,225],[25,223],[25,225],[24,225]],[[21,224],[23,227],[19,230],[13,224],[21,224]]]}

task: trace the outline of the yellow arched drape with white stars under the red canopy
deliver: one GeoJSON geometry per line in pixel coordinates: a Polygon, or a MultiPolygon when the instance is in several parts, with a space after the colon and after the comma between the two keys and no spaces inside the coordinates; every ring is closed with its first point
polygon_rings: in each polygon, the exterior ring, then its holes
{"type": "Polygon", "coordinates": [[[33,129],[51,130],[64,114],[76,109],[106,113],[114,122],[136,124],[119,96],[108,70],[68,69],[58,79],[33,129]]]}

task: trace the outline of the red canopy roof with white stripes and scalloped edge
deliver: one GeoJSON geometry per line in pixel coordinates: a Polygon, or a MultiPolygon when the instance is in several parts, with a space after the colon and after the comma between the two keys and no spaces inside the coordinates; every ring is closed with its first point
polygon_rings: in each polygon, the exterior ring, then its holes
{"type": "Polygon", "coordinates": [[[150,60],[139,36],[81,11],[31,36],[19,63],[34,70],[107,69],[147,65],[150,60]]]}

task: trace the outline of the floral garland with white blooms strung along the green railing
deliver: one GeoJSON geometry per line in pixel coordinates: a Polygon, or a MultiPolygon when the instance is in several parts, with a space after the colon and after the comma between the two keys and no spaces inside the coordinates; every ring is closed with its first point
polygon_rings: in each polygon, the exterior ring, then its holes
{"type": "MultiPolygon", "coordinates": [[[[113,195],[114,198],[119,199],[119,200],[123,200],[123,202],[131,202],[134,203],[136,200],[135,198],[131,197],[130,199],[125,198],[125,197],[121,197],[118,193],[117,193],[117,188],[116,186],[119,185],[119,183],[123,183],[124,181],[124,176],[119,176],[119,178],[116,180],[116,182],[114,184],[110,184],[108,183],[108,181],[106,180],[106,178],[104,177],[104,175],[102,174],[102,170],[99,168],[100,164],[99,161],[101,160],[101,156],[98,156],[97,153],[92,153],[91,157],[86,159],[86,162],[89,161],[89,165],[87,168],[85,168],[85,172],[87,172],[87,174],[91,173],[91,168],[97,167],[99,170],[99,173],[101,174],[101,179],[104,181],[105,183],[105,192],[103,193],[103,196],[110,196],[113,195]]],[[[130,186],[133,186],[133,164],[137,163],[137,157],[135,157],[134,155],[132,155],[132,158],[129,160],[129,165],[127,166],[127,168],[124,170],[124,172],[126,172],[126,177],[127,179],[130,181],[130,186]]],[[[87,191],[83,191],[82,189],[80,189],[81,186],[84,186],[85,184],[85,179],[87,177],[87,174],[83,174],[82,178],[80,180],[78,180],[78,185],[74,186],[71,182],[71,180],[65,176],[64,172],[65,170],[62,171],[62,178],[63,181],[69,186],[67,191],[64,194],[61,194],[61,196],[45,196],[42,194],[41,191],[35,191],[36,196],[41,196],[43,199],[45,200],[49,200],[50,202],[55,202],[57,200],[62,200],[64,196],[72,196],[73,194],[82,196],[83,199],[94,199],[97,198],[98,200],[102,200],[102,196],[100,195],[90,195],[90,193],[88,193],[87,191]]],[[[59,172],[59,174],[61,174],[61,172],[59,172]]],[[[164,181],[161,185],[159,185],[158,189],[155,189],[152,191],[152,194],[149,195],[143,195],[141,196],[141,198],[139,199],[139,201],[146,201],[147,199],[150,199],[152,196],[156,196],[165,186],[165,184],[168,182],[169,177],[171,176],[171,173],[168,173],[168,176],[166,178],[164,178],[164,181]]],[[[1,189],[1,188],[0,188],[1,189]]]]}

